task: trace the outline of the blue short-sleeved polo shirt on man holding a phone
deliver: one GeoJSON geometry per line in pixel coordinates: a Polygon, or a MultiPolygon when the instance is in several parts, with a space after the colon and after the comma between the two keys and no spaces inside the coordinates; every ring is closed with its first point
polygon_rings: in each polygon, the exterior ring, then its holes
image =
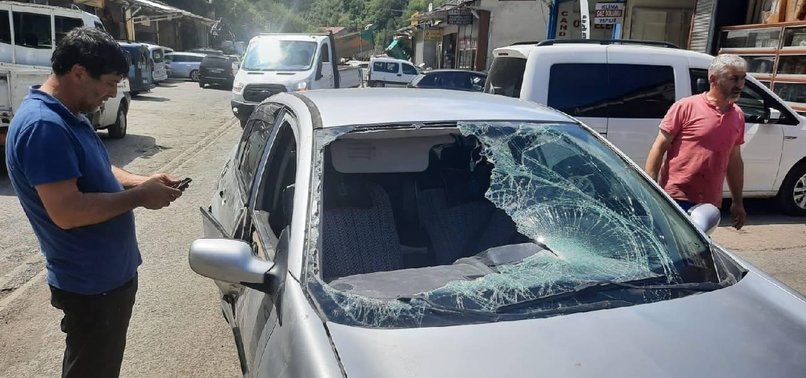
{"type": "Polygon", "coordinates": [[[6,139],[6,165],[28,220],[39,239],[48,283],[78,294],[99,294],[134,277],[142,262],[134,213],[71,230],[48,216],[35,186],[77,179],[83,193],[115,193],[123,186],[101,139],[84,116],[36,87],[14,114],[6,139]]]}

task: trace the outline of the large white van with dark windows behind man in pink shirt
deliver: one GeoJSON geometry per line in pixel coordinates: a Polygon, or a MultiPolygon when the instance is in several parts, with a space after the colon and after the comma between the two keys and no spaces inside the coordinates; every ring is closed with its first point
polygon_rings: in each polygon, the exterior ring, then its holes
{"type": "MultiPolygon", "coordinates": [[[[643,167],[669,107],[708,90],[713,57],[659,43],[594,42],[495,49],[485,91],[574,116],[643,167]]],[[[750,76],[737,104],[747,122],[744,196],[777,197],[785,212],[806,215],[806,118],[750,76]]]]}

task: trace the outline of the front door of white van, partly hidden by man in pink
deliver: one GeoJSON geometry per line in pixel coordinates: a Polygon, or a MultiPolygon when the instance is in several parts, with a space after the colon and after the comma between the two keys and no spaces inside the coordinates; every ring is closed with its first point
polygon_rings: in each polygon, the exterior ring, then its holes
{"type": "MultiPolygon", "coordinates": [[[[692,93],[708,90],[708,71],[691,69],[692,93]]],[[[744,112],[744,191],[769,192],[775,185],[781,162],[784,144],[784,130],[789,111],[780,106],[772,96],[761,89],[761,85],[751,78],[745,82],[742,96],[736,104],[744,112]],[[776,109],[782,118],[770,119],[770,109],[776,109]]],[[[724,192],[730,193],[727,183],[724,192]]]]}

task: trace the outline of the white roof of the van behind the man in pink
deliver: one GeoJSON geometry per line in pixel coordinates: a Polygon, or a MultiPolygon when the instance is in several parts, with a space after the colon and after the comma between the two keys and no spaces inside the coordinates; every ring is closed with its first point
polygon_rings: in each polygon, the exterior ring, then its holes
{"type": "Polygon", "coordinates": [[[509,53],[510,55],[526,58],[532,52],[538,54],[579,54],[590,52],[607,51],[608,54],[636,54],[645,55],[650,54],[656,57],[659,62],[668,62],[670,59],[687,59],[691,63],[697,65],[708,65],[714,58],[711,55],[670,47],[659,47],[650,45],[637,45],[637,44],[593,44],[593,43],[561,43],[554,45],[538,46],[534,45],[511,45],[506,47],[499,47],[493,50],[495,56],[500,53],[509,53]],[[513,54],[514,53],[514,54],[513,54]]]}

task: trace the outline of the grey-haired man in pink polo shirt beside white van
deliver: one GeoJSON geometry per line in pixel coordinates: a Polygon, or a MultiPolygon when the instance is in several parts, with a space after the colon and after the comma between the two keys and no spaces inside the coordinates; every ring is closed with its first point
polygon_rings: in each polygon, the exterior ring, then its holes
{"type": "Polygon", "coordinates": [[[661,121],[644,168],[654,180],[659,179],[683,210],[699,203],[721,207],[722,184],[727,177],[733,197],[730,213],[737,230],[744,226],[747,215],[742,201],[744,163],[740,149],[744,113],[735,103],[742,94],[746,72],[741,57],[717,56],[708,67],[711,88],[672,105],[661,121]]]}

